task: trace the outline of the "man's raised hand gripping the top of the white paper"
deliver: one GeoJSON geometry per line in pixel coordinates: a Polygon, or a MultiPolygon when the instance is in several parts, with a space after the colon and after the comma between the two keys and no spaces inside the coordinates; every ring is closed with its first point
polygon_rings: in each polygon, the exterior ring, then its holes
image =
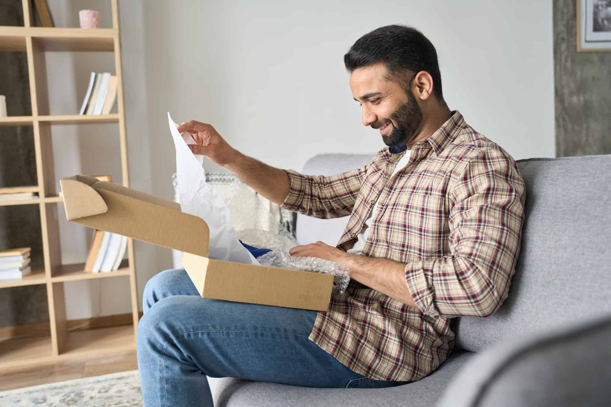
{"type": "Polygon", "coordinates": [[[197,144],[189,144],[193,154],[208,157],[214,164],[225,166],[235,161],[238,151],[232,148],[208,123],[189,120],[180,123],[179,132],[188,131],[197,144]]]}

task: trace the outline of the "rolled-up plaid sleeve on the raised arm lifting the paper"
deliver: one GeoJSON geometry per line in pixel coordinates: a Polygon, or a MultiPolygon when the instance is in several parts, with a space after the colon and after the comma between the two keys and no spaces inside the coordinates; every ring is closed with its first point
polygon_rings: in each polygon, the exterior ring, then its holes
{"type": "Polygon", "coordinates": [[[316,218],[349,215],[367,173],[367,165],[338,175],[303,175],[286,170],[291,183],[280,207],[316,218]]]}

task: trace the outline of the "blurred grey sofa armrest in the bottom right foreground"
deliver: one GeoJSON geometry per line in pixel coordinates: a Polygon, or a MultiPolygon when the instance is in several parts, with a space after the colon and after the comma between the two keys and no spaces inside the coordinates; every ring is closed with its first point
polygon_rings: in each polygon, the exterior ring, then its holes
{"type": "Polygon", "coordinates": [[[611,406],[611,317],[483,351],[439,400],[461,406],[611,406]]]}

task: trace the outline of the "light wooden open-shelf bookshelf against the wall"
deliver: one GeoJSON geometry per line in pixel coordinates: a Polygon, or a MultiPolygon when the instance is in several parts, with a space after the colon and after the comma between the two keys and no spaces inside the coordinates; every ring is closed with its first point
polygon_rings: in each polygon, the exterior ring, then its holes
{"type": "MultiPolygon", "coordinates": [[[[100,124],[119,125],[120,158],[122,179],[115,180],[129,186],[127,145],[125,139],[125,109],[123,107],[123,83],[121,71],[121,48],[119,41],[119,14],[117,0],[112,3],[112,28],[80,29],[57,27],[32,27],[31,1],[22,0],[24,26],[0,26],[0,52],[20,51],[27,54],[27,69],[32,102],[31,116],[2,117],[0,126],[32,126],[38,197],[32,200],[0,201],[0,206],[38,205],[44,267],[34,268],[31,275],[19,280],[0,280],[0,289],[5,287],[44,284],[49,307],[50,335],[24,337],[0,342],[0,367],[23,364],[45,364],[67,358],[100,353],[112,353],[133,349],[136,345],[136,328],[139,319],[136,271],[134,265],[133,240],[128,239],[128,258],[119,270],[109,273],[85,273],[84,264],[61,264],[59,247],[59,225],[53,216],[54,206],[62,204],[56,190],[54,159],[61,159],[61,152],[54,157],[51,149],[51,126],[55,124],[100,124]],[[115,74],[118,79],[118,113],[109,115],[46,115],[49,112],[46,52],[112,52],[115,74]],[[87,331],[68,332],[64,301],[64,283],[85,279],[127,278],[130,284],[131,325],[98,328],[87,331]]],[[[63,211],[59,211],[61,215],[63,211]]]]}

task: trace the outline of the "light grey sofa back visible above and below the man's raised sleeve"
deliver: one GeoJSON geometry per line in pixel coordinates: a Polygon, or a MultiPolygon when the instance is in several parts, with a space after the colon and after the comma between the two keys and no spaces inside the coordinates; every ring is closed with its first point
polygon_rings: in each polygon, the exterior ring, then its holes
{"type": "MultiPolygon", "coordinates": [[[[374,155],[318,154],[305,162],[302,173],[307,175],[340,174],[369,164],[374,155]]],[[[297,215],[295,236],[302,245],[322,240],[327,245],[334,246],[342,237],[346,223],[348,223],[347,216],[335,219],[317,219],[299,214],[297,215]]]]}

